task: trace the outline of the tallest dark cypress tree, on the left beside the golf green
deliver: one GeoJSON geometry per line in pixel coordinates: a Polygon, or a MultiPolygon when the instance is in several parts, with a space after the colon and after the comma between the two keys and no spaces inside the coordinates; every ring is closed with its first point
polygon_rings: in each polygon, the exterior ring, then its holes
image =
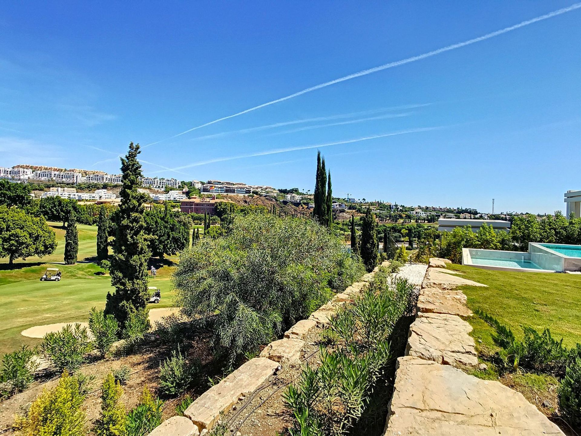
{"type": "Polygon", "coordinates": [[[105,315],[112,314],[121,327],[132,312],[144,310],[148,301],[147,265],[150,257],[145,235],[144,202],[146,195],[137,191],[142,177],[137,160],[139,144],[130,142],[129,151],[121,158],[123,173],[121,203],[115,214],[116,231],[111,258],[113,294],[107,294],[105,315]]]}

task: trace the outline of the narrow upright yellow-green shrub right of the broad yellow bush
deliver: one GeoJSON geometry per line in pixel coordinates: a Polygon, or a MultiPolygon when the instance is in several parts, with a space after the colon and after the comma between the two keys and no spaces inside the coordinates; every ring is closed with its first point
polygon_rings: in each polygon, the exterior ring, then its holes
{"type": "Polygon", "coordinates": [[[97,436],[124,436],[127,415],[125,406],[120,402],[123,389],[113,376],[107,374],[103,380],[101,391],[101,417],[95,424],[95,434],[97,436]]]}

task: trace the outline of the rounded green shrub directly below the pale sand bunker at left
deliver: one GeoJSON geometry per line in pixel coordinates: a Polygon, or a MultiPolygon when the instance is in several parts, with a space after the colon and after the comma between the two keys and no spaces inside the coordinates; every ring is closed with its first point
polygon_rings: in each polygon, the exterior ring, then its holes
{"type": "Polygon", "coordinates": [[[74,372],[85,362],[85,355],[92,350],[87,327],[67,324],[58,332],[47,333],[41,346],[42,355],[59,371],[74,372]]]}

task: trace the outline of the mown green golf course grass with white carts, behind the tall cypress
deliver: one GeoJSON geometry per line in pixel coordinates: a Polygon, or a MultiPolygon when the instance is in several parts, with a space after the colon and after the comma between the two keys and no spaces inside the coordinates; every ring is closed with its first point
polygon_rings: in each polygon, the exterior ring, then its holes
{"type": "MultiPolygon", "coordinates": [[[[87,321],[89,310],[105,306],[107,292],[113,291],[110,277],[97,263],[96,226],[77,224],[78,263],[63,265],[64,228],[62,223],[49,222],[56,233],[58,246],[52,255],[44,258],[15,260],[12,269],[8,258],[0,259],[0,353],[14,351],[23,344],[40,344],[42,339],[28,338],[21,331],[44,324],[87,321]],[[46,268],[59,268],[60,281],[40,281],[46,268]]],[[[174,259],[176,260],[176,259],[174,259]]],[[[150,286],[162,291],[162,301],[148,308],[173,305],[170,276],[171,259],[152,259],[157,276],[149,280],[150,286]]],[[[151,264],[150,264],[151,265],[151,264]]]]}

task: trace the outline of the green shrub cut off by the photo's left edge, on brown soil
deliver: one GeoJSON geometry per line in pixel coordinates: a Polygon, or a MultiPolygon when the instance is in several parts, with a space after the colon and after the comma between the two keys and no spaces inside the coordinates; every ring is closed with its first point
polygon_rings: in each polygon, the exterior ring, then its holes
{"type": "Polygon", "coordinates": [[[1,396],[9,396],[24,391],[34,380],[38,362],[33,360],[34,351],[23,345],[21,349],[6,353],[2,358],[0,383],[5,384],[1,396]]]}

